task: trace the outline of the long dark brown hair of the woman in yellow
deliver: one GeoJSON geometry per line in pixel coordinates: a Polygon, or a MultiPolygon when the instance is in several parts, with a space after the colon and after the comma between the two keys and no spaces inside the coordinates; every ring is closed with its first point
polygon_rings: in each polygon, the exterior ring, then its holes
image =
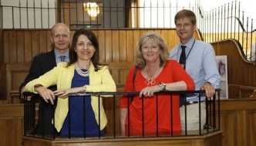
{"type": "Polygon", "coordinates": [[[89,41],[92,42],[96,51],[94,52],[94,55],[91,58],[91,61],[93,62],[95,71],[100,70],[103,67],[103,64],[99,63],[99,41],[93,32],[91,32],[87,29],[84,29],[84,28],[77,30],[75,32],[75,34],[73,35],[72,45],[71,45],[71,48],[69,49],[69,64],[67,66],[72,65],[72,64],[76,63],[76,61],[77,61],[77,53],[75,51],[75,48],[76,48],[76,42],[80,35],[86,35],[86,37],[89,39],[89,41]]]}

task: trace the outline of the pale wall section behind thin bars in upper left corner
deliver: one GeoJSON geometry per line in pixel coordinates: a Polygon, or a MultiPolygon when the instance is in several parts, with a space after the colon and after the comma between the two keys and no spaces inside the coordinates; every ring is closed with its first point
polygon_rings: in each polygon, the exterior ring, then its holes
{"type": "Polygon", "coordinates": [[[1,0],[2,28],[51,28],[56,24],[55,3],[55,0],[1,0]]]}

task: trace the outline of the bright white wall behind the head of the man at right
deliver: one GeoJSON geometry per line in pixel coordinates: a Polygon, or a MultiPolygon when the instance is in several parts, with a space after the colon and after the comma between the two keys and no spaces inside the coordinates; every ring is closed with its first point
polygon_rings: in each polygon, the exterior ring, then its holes
{"type": "MultiPolygon", "coordinates": [[[[192,11],[194,11],[197,15],[197,26],[200,27],[200,21],[199,14],[197,14],[197,7],[199,6],[200,9],[203,12],[204,18],[207,17],[207,15],[204,14],[204,12],[211,12],[211,14],[217,15],[218,8],[221,8],[221,5],[227,8],[228,3],[230,6],[230,9],[227,14],[227,9],[225,15],[223,14],[222,17],[222,24],[218,24],[217,26],[224,26],[217,28],[216,30],[211,29],[213,32],[224,32],[228,27],[230,27],[231,24],[237,23],[234,18],[228,18],[231,15],[235,15],[235,8],[233,6],[233,9],[231,10],[231,5],[235,4],[235,0],[217,0],[217,1],[210,1],[210,0],[140,0],[140,27],[141,28],[175,28],[174,25],[174,16],[178,11],[181,9],[187,8],[192,11]],[[155,7],[159,8],[155,8],[155,7]],[[145,8],[143,8],[145,7],[145,8]],[[162,8],[161,8],[162,7],[162,8]],[[171,7],[171,10],[170,10],[171,7]],[[228,16],[228,17],[227,17],[228,16]],[[225,22],[224,22],[225,21],[225,22]],[[227,26],[228,25],[228,26],[227,26]]],[[[244,12],[244,25],[247,25],[246,19],[248,19],[248,32],[251,31],[251,22],[253,19],[253,29],[256,28],[256,15],[254,15],[254,7],[256,5],[255,0],[236,0],[237,2],[237,9],[239,7],[240,2],[240,11],[241,14],[238,16],[236,13],[236,17],[242,19],[242,12],[244,12]]],[[[224,9],[223,9],[224,11],[224,9]]],[[[209,13],[207,13],[209,14],[209,13]]],[[[215,16],[214,16],[215,17],[215,16]]],[[[212,17],[213,21],[217,20],[212,17]]],[[[242,20],[241,20],[242,21],[242,20]]],[[[211,24],[204,24],[204,25],[211,25],[212,28],[216,28],[214,26],[215,22],[207,21],[211,24]]],[[[219,20],[221,22],[221,20],[219,20]]],[[[237,31],[238,31],[237,27],[237,31]]],[[[234,31],[231,30],[231,31],[234,31]]],[[[239,30],[241,32],[241,29],[239,30]]],[[[207,33],[207,30],[205,30],[207,33]]]]}

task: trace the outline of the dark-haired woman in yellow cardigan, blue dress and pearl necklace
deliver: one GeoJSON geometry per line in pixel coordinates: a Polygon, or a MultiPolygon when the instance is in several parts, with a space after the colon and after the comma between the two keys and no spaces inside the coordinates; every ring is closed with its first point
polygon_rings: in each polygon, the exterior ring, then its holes
{"type": "Polygon", "coordinates": [[[107,119],[102,99],[89,95],[67,96],[76,92],[116,91],[109,68],[99,63],[99,42],[93,32],[83,28],[75,32],[69,60],[69,63],[60,62],[45,75],[30,81],[25,91],[39,93],[45,102],[52,104],[59,95],[54,124],[60,134],[104,134],[107,119]],[[58,89],[49,90],[51,85],[57,85],[58,89]],[[86,105],[85,111],[83,104],[86,105]]]}

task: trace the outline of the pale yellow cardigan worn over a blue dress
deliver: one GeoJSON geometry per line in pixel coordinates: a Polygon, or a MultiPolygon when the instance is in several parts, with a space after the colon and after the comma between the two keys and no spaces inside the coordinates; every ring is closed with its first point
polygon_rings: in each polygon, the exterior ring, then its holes
{"type": "MultiPolygon", "coordinates": [[[[25,91],[37,93],[34,91],[34,86],[38,84],[43,85],[45,88],[48,88],[51,85],[57,85],[58,89],[71,88],[71,81],[74,76],[75,65],[70,65],[68,68],[66,68],[66,65],[66,62],[60,62],[57,67],[46,72],[45,75],[29,81],[29,83],[25,85],[25,91]]],[[[113,80],[112,75],[110,75],[109,68],[107,66],[104,66],[99,71],[94,71],[94,66],[91,62],[89,68],[89,85],[86,85],[86,91],[116,91],[115,81],[113,80]]],[[[103,128],[106,126],[107,119],[103,108],[102,99],[100,98],[100,104],[98,104],[97,96],[91,96],[91,99],[97,124],[99,124],[100,108],[100,130],[103,130],[103,128]]],[[[68,111],[68,98],[59,98],[55,111],[55,127],[57,131],[61,130],[68,111]]]]}

